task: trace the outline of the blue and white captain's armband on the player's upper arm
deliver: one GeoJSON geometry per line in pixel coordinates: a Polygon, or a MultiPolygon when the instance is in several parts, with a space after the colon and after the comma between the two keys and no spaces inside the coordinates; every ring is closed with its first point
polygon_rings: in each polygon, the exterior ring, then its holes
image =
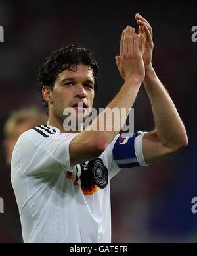
{"type": "Polygon", "coordinates": [[[145,133],[120,135],[113,148],[113,156],[119,168],[147,166],[142,151],[142,139],[145,133]]]}

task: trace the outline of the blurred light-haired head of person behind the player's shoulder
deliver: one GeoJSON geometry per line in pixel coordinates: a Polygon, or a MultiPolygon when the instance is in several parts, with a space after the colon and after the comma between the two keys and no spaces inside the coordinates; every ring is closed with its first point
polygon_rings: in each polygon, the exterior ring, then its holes
{"type": "Polygon", "coordinates": [[[43,123],[47,123],[47,116],[35,107],[23,108],[11,114],[4,127],[4,146],[8,166],[11,165],[12,152],[20,135],[43,123]]]}

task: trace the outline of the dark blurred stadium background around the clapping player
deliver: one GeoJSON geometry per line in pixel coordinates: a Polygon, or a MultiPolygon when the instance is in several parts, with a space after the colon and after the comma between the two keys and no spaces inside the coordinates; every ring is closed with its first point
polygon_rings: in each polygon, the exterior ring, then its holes
{"type": "MultiPolygon", "coordinates": [[[[112,241],[197,241],[196,57],[191,40],[197,25],[194,4],[166,1],[1,1],[0,25],[0,242],[20,242],[20,221],[5,164],[3,125],[13,110],[37,106],[37,68],[49,51],[80,43],[99,61],[95,107],[116,95],[122,80],[114,56],[121,31],[134,15],[145,16],[154,30],[154,67],[166,84],[188,131],[190,143],[179,154],[150,168],[123,170],[112,180],[112,241]],[[97,3],[96,3],[97,2],[97,3]]],[[[150,131],[153,117],[142,86],[135,103],[135,131],[150,131]]]]}

